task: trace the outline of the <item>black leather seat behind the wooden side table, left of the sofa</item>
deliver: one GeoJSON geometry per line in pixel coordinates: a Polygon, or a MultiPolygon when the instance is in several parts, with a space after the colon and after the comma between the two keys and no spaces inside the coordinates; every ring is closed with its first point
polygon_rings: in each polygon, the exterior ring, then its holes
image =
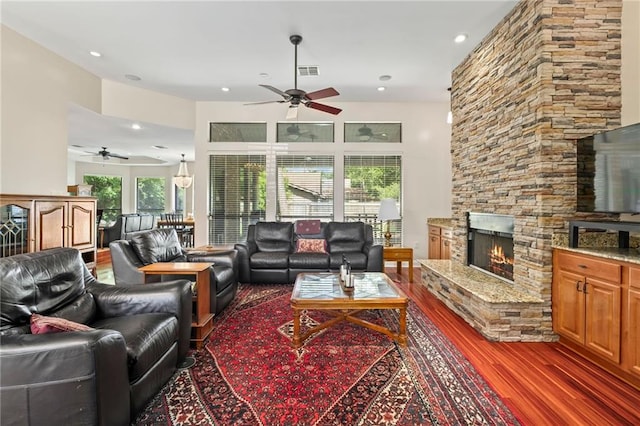
{"type": "MultiPolygon", "coordinates": [[[[117,286],[144,283],[139,267],[156,262],[213,262],[210,271],[210,309],[220,313],[238,292],[238,262],[234,249],[214,253],[189,253],[183,250],[176,230],[157,228],[134,232],[127,240],[109,244],[113,276],[117,286]]],[[[149,280],[181,278],[175,275],[153,275],[149,280]]],[[[187,277],[193,279],[193,276],[187,277]]]]}

